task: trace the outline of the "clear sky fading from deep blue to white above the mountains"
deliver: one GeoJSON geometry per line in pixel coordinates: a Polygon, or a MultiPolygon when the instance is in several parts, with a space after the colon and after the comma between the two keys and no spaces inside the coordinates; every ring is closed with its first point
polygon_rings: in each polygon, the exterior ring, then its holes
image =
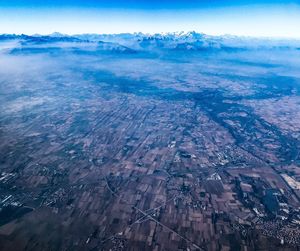
{"type": "Polygon", "coordinates": [[[0,0],[0,34],[176,31],[300,38],[300,0],[0,0]]]}

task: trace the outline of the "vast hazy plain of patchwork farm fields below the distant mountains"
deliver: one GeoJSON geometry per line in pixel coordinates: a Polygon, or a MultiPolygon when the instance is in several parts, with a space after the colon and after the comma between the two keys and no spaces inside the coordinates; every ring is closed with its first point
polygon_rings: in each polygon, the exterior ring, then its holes
{"type": "Polygon", "coordinates": [[[0,250],[299,250],[299,48],[69,40],[0,42],[0,250]]]}

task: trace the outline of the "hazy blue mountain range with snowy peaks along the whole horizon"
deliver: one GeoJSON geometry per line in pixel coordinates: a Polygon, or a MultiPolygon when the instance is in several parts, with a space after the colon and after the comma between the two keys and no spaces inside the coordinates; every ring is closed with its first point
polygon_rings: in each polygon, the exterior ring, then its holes
{"type": "Polygon", "coordinates": [[[268,48],[299,48],[299,40],[259,39],[232,35],[210,36],[203,33],[122,33],[122,34],[80,34],[65,35],[54,32],[49,35],[35,34],[0,35],[1,41],[15,41],[18,50],[60,48],[73,51],[98,51],[114,53],[137,53],[165,51],[215,51],[251,50],[268,48]]]}

